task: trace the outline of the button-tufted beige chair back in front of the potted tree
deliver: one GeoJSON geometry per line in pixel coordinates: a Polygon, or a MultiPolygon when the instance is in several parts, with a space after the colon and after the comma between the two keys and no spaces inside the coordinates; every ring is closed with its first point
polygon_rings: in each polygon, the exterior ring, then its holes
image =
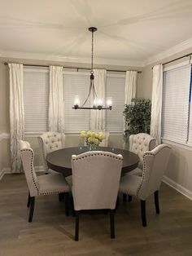
{"type": "Polygon", "coordinates": [[[140,162],[138,167],[142,169],[143,155],[146,151],[151,151],[156,147],[156,139],[144,133],[137,135],[130,135],[129,137],[129,150],[138,155],[140,162]]]}

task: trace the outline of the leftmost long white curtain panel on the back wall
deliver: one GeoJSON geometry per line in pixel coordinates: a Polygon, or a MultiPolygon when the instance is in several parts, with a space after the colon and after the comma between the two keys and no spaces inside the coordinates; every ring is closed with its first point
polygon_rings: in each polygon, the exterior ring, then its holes
{"type": "Polygon", "coordinates": [[[11,172],[21,172],[19,140],[24,139],[23,64],[9,64],[11,172]]]}

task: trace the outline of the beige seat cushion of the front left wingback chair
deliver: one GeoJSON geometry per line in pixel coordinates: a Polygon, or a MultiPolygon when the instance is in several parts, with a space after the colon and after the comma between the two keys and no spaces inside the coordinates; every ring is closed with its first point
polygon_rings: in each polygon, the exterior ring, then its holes
{"type": "Polygon", "coordinates": [[[69,192],[70,188],[63,174],[45,174],[38,176],[39,195],[69,192]]]}

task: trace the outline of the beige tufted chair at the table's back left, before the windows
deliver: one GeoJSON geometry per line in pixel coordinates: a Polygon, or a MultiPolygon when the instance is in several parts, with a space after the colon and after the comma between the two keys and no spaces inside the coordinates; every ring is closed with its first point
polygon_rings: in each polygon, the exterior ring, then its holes
{"type": "Polygon", "coordinates": [[[64,148],[65,135],[59,132],[48,131],[45,134],[37,137],[39,148],[43,157],[43,165],[46,174],[56,173],[55,170],[50,170],[46,163],[46,155],[49,152],[64,148]]]}

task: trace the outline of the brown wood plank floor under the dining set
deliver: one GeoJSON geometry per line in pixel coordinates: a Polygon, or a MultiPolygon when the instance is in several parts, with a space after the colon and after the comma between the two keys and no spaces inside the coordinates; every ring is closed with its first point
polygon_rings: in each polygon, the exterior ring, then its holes
{"type": "Polygon", "coordinates": [[[83,214],[80,241],[75,242],[75,218],[66,217],[58,196],[36,199],[33,223],[28,223],[28,189],[23,174],[0,181],[1,256],[192,255],[192,201],[166,184],[159,192],[160,214],[153,196],[142,227],[139,201],[122,201],[116,211],[116,239],[110,239],[108,216],[83,214]]]}

